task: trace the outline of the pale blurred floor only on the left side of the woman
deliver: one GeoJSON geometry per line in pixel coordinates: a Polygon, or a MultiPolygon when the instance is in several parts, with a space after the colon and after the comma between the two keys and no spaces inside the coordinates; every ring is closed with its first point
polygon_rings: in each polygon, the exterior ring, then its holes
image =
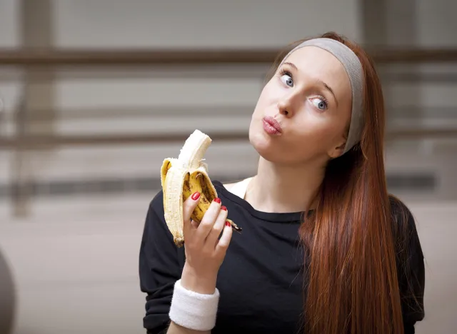
{"type": "Polygon", "coordinates": [[[1,219],[19,299],[14,334],[144,333],[137,258],[149,196],[71,202],[88,206],[68,216],[44,209],[34,220],[1,219]]]}

